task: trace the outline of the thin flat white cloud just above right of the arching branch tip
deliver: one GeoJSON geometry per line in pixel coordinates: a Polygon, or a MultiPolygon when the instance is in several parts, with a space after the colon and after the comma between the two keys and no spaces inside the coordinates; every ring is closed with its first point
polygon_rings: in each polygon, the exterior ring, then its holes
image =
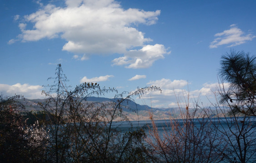
{"type": "Polygon", "coordinates": [[[165,79],[165,78],[162,78],[161,80],[150,81],[147,83],[147,85],[150,85],[150,86],[157,86],[162,89],[171,89],[171,90],[182,88],[182,87],[186,86],[187,84],[188,84],[188,82],[185,80],[171,81],[170,79],[165,79]]]}

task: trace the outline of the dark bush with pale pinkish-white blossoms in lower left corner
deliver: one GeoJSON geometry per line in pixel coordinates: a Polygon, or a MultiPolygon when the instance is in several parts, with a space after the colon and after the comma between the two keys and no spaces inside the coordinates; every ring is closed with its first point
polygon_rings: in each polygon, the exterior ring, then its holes
{"type": "Polygon", "coordinates": [[[41,163],[46,130],[39,124],[28,125],[22,104],[23,96],[0,95],[0,162],[41,163]],[[35,152],[36,151],[36,152],[35,152]]]}

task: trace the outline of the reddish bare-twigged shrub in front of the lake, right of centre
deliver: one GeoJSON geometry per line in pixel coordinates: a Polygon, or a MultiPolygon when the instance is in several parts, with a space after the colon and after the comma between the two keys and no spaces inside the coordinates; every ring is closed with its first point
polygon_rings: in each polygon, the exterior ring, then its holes
{"type": "Polygon", "coordinates": [[[147,143],[151,146],[151,155],[156,156],[156,163],[214,163],[221,160],[221,136],[218,136],[208,118],[199,112],[199,106],[189,107],[187,95],[186,110],[182,110],[181,101],[177,101],[182,119],[171,117],[163,127],[164,134],[158,131],[152,113],[150,118],[152,128],[149,127],[147,143]]]}

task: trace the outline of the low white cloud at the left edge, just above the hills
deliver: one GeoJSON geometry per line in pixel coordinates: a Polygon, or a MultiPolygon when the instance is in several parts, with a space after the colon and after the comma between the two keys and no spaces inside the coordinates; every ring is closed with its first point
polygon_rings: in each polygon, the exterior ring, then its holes
{"type": "Polygon", "coordinates": [[[23,95],[25,98],[28,99],[37,99],[37,98],[44,98],[41,94],[43,87],[36,85],[31,86],[29,84],[0,84],[0,92],[7,96],[13,96],[15,94],[23,95]]]}

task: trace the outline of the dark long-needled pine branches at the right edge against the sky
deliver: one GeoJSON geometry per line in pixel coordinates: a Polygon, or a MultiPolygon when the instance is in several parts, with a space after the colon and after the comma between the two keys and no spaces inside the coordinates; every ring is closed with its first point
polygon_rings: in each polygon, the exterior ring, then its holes
{"type": "Polygon", "coordinates": [[[219,90],[221,103],[232,113],[256,116],[256,56],[231,50],[221,57],[220,77],[230,84],[219,90]]]}

